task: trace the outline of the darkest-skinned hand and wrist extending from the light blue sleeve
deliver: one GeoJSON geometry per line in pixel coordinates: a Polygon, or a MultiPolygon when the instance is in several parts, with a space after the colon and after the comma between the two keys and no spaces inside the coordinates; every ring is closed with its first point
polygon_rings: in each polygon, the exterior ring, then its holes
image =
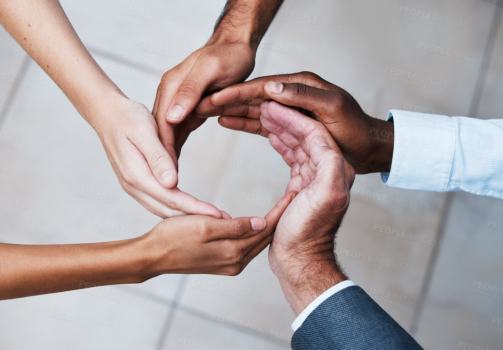
{"type": "Polygon", "coordinates": [[[328,129],[358,174],[386,172],[393,156],[393,123],[367,115],[344,89],[314,73],[261,77],[230,86],[201,101],[198,116],[221,115],[220,125],[258,133],[269,131],[260,122],[260,103],[275,100],[302,108],[328,129]]]}

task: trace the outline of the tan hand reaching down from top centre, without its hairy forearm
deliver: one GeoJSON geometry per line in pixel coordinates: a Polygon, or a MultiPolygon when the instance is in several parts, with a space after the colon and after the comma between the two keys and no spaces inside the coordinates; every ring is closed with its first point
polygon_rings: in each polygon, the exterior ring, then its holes
{"type": "Polygon", "coordinates": [[[167,71],[152,110],[164,147],[180,155],[189,134],[205,121],[190,115],[203,94],[242,82],[254,66],[255,50],[249,44],[210,40],[167,71]]]}

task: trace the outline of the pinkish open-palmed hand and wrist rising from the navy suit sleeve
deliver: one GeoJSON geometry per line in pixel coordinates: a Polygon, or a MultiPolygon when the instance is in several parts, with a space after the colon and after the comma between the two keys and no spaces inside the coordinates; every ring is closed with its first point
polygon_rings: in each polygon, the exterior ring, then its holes
{"type": "Polygon", "coordinates": [[[291,167],[287,192],[298,192],[269,248],[270,266],[298,315],[347,279],[337,265],[334,237],[355,172],[322,123],[276,102],[264,102],[261,111],[271,145],[291,167]]]}

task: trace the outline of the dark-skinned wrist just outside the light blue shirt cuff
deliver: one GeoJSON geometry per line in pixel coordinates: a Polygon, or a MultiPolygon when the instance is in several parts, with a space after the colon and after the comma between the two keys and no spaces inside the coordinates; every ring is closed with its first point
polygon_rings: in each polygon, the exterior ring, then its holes
{"type": "Polygon", "coordinates": [[[387,173],[391,170],[393,146],[395,142],[394,125],[390,121],[372,118],[370,122],[371,166],[373,173],[387,173]]]}

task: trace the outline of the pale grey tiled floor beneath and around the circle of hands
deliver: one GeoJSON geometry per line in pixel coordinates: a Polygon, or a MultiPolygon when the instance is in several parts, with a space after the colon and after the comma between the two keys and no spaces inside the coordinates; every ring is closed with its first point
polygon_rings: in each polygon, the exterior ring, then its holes
{"type": "MultiPolygon", "coordinates": [[[[206,42],[225,2],[130,1],[61,4],[104,71],[128,97],[152,108],[162,74],[206,42]],[[166,15],[142,15],[138,7],[166,15]],[[164,49],[151,49],[152,42],[164,49]]],[[[501,118],[497,3],[285,0],[251,78],[312,71],[382,119],[389,109],[501,118]],[[422,21],[421,11],[448,21],[422,21]],[[321,23],[313,26],[314,17],[321,23]],[[281,41],[292,49],[279,49],[281,41]],[[447,83],[413,84],[397,70],[447,83]]],[[[124,192],[94,130],[3,28],[0,68],[0,135],[38,145],[0,146],[0,198],[29,203],[28,209],[0,205],[0,241],[118,240],[160,221],[135,202],[77,195],[79,186],[124,192]],[[13,80],[8,71],[33,79],[13,80]]],[[[223,129],[213,118],[182,151],[180,188],[233,217],[265,215],[288,178],[227,169],[226,157],[288,169],[266,139],[223,129]]],[[[352,280],[426,349],[499,349],[502,247],[503,201],[388,188],[372,174],[357,176],[337,252],[352,280]],[[365,254],[403,268],[369,264],[365,254]]],[[[287,349],[294,319],[265,251],[236,277],[163,275],[140,285],[0,302],[0,348],[287,349]],[[55,319],[53,307],[89,313],[109,326],[55,319]]]]}

